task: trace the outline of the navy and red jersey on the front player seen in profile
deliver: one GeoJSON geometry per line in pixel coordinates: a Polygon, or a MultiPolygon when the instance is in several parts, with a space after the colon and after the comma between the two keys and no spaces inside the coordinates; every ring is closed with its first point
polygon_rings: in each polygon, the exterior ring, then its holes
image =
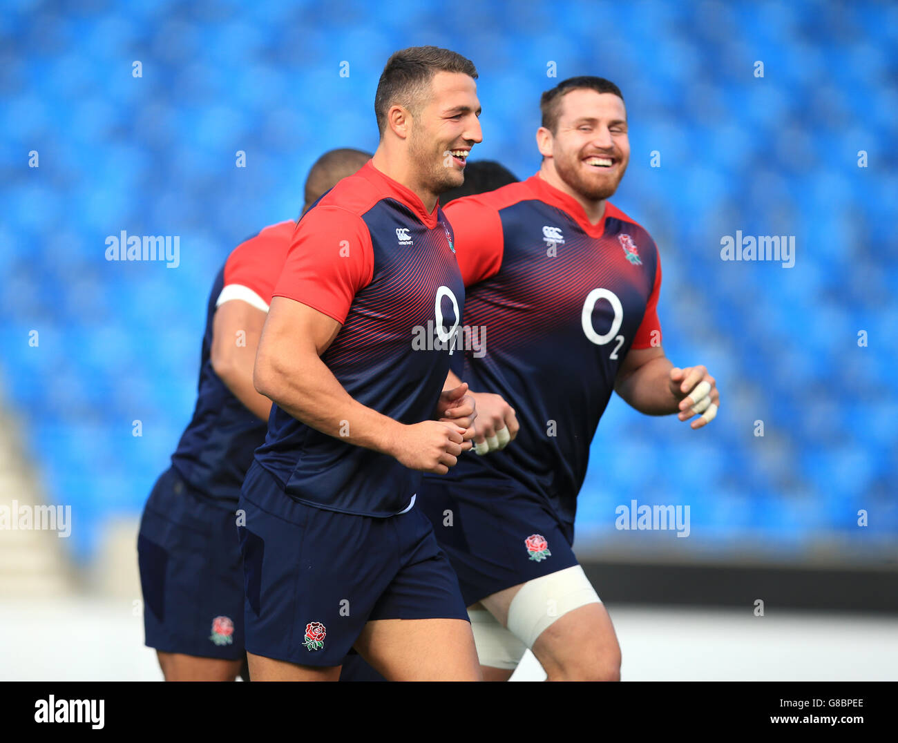
{"type": "MultiPolygon", "coordinates": [[[[403,424],[433,417],[452,358],[445,339],[464,302],[439,205],[428,214],[413,191],[367,162],[297,225],[274,295],[342,325],[321,361],[352,398],[403,424]]],[[[421,480],[398,460],[316,431],[277,405],[256,460],[296,500],[365,516],[404,511],[421,480]]]]}

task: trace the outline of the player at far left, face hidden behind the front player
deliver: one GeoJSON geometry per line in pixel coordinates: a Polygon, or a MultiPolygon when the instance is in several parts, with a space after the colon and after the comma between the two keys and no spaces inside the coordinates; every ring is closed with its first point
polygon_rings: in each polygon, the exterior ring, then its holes
{"type": "MultiPolygon", "coordinates": [[[[305,181],[303,214],[370,157],[351,149],[321,155],[305,181]]],[[[137,545],[146,644],[167,681],[233,681],[244,662],[234,510],[252,452],[265,441],[271,401],[253,388],[252,365],[294,229],[292,220],[266,227],[218,272],[197,405],[145,505],[137,545]]]]}

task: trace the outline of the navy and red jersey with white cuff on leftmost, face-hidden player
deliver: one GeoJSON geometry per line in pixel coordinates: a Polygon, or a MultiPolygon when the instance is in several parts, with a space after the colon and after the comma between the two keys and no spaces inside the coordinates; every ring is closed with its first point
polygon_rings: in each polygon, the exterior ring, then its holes
{"type": "Polygon", "coordinates": [[[265,441],[268,428],[233,396],[212,368],[209,354],[216,308],[230,300],[242,300],[269,310],[295,226],[292,220],[272,224],[238,245],[216,275],[209,294],[197,406],[172,454],[172,467],[189,485],[216,501],[237,503],[252,452],[265,441]]]}

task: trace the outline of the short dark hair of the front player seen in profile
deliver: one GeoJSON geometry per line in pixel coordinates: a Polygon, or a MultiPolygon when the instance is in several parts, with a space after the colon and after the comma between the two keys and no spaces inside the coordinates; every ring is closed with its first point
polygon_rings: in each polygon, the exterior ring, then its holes
{"type": "Polygon", "coordinates": [[[438,72],[462,73],[477,79],[474,63],[449,49],[409,47],[392,53],[383,67],[374,94],[374,115],[382,138],[390,107],[399,103],[414,114],[423,102],[431,79],[438,72]]]}

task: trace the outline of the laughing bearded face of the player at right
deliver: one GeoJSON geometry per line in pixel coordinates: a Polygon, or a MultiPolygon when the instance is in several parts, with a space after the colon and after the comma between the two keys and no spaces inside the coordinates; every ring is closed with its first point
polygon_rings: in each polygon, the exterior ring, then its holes
{"type": "Polygon", "coordinates": [[[578,194],[594,201],[611,197],[629,163],[623,101],[588,89],[567,93],[545,148],[550,152],[542,153],[550,154],[559,178],[578,194]]]}

